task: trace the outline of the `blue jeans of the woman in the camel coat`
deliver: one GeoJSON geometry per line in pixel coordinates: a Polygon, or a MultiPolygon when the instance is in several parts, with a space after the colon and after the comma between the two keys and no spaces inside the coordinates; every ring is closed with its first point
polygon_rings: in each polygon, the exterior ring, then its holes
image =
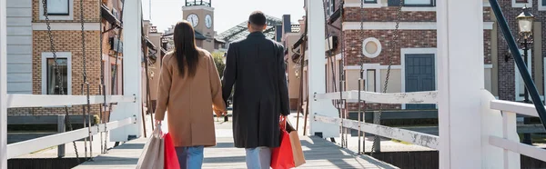
{"type": "Polygon", "coordinates": [[[180,169],[200,169],[203,165],[204,146],[175,147],[180,169]]]}

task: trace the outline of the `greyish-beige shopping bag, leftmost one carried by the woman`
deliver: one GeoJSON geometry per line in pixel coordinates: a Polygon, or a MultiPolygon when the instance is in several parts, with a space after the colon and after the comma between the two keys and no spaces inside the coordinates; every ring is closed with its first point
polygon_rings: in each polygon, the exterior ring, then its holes
{"type": "Polygon", "coordinates": [[[157,126],[156,130],[150,135],[148,142],[144,145],[142,154],[138,158],[136,169],[163,169],[165,159],[164,150],[165,142],[163,141],[161,127],[157,126]]]}

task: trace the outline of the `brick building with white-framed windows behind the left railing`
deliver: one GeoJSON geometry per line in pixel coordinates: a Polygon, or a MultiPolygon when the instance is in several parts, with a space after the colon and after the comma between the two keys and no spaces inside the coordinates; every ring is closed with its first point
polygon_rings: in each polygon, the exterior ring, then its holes
{"type": "MultiPolygon", "coordinates": [[[[14,73],[30,73],[28,75],[13,75],[16,78],[28,78],[23,81],[13,81],[12,94],[61,94],[56,81],[55,61],[51,52],[47,25],[45,24],[44,7],[42,0],[9,0],[13,8],[19,8],[19,14],[14,17],[22,18],[15,23],[21,27],[21,37],[16,40],[23,48],[15,48],[14,55],[9,55],[14,62],[25,66],[11,67],[14,73]],[[27,10],[24,10],[27,9],[27,10]],[[16,58],[16,59],[15,59],[16,58]],[[18,61],[16,61],[18,60],[18,61]],[[16,85],[16,83],[28,83],[16,85]],[[29,88],[29,92],[26,88],[29,88]]],[[[121,64],[123,45],[117,40],[118,29],[121,27],[121,0],[84,0],[83,25],[80,22],[80,3],[75,0],[48,1],[48,15],[50,20],[53,41],[56,47],[57,63],[63,80],[64,94],[85,94],[82,91],[84,84],[84,58],[82,45],[82,26],[85,29],[86,75],[89,83],[90,95],[99,95],[101,86],[101,64],[104,65],[106,94],[121,94],[122,73],[121,64]],[[102,11],[102,13],[101,13],[102,11]],[[101,34],[101,31],[103,33],[101,34]],[[100,37],[102,35],[102,42],[100,37]],[[119,49],[115,46],[120,44],[119,49]],[[100,46],[102,45],[102,54],[100,46]],[[113,67],[117,63],[117,83],[112,90],[113,67]],[[102,57],[101,57],[102,56],[102,57]],[[102,60],[101,60],[102,58],[102,60]]],[[[123,38],[120,39],[123,41],[123,38]]],[[[85,91],[85,88],[84,88],[85,91]]],[[[68,106],[69,114],[82,114],[82,105],[68,106]]],[[[91,106],[91,114],[99,113],[98,104],[91,106]]],[[[35,107],[14,108],[8,111],[10,115],[53,115],[65,114],[64,107],[35,107]]]]}

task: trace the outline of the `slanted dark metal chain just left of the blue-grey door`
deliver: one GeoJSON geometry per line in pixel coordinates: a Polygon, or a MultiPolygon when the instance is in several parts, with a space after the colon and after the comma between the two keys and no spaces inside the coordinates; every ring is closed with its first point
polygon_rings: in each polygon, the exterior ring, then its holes
{"type": "MultiPolygon", "coordinates": [[[[385,85],[383,86],[383,94],[387,93],[387,87],[389,86],[389,76],[390,76],[390,67],[392,65],[392,55],[395,55],[395,52],[394,50],[396,49],[396,47],[399,45],[398,44],[398,38],[399,38],[399,24],[400,24],[400,18],[402,16],[402,6],[403,6],[403,1],[399,1],[399,9],[398,9],[398,14],[396,15],[396,27],[394,29],[394,35],[392,35],[392,41],[390,42],[391,44],[393,44],[391,47],[390,47],[390,55],[388,55],[387,57],[389,58],[389,67],[387,67],[387,76],[385,78],[385,85]]],[[[374,124],[376,123],[377,121],[377,124],[381,124],[381,113],[383,113],[383,104],[379,104],[379,113],[377,116],[375,116],[374,118],[374,124]]],[[[373,144],[371,145],[371,154],[373,154],[375,152],[375,145],[376,143],[379,143],[380,141],[380,137],[378,135],[375,136],[374,140],[373,140],[373,144]]]]}

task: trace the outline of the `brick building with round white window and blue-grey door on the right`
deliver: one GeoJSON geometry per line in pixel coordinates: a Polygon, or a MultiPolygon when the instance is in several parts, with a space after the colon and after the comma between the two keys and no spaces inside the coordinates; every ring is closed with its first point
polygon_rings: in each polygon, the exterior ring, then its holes
{"type": "MultiPolygon", "coordinates": [[[[325,10],[329,26],[326,30],[325,41],[327,43],[326,91],[339,91],[339,65],[341,64],[343,64],[346,78],[346,83],[343,84],[344,90],[358,90],[360,65],[363,64],[362,89],[382,92],[389,55],[392,58],[392,67],[388,93],[436,90],[438,77],[435,74],[437,69],[435,1],[405,0],[402,2],[404,7],[401,9],[399,40],[396,47],[393,47],[392,35],[396,25],[399,1],[364,0],[363,8],[360,7],[360,2],[360,0],[329,0],[327,2],[325,10]],[[362,25],[360,22],[363,22],[362,25]],[[341,53],[342,48],[345,49],[344,53],[341,53]],[[341,57],[345,59],[344,63],[341,63],[341,57]]],[[[500,0],[499,3],[511,25],[513,35],[519,35],[516,16],[521,14],[521,7],[525,5],[531,7],[531,13],[536,16],[532,35],[534,44],[531,45],[532,58],[529,59],[529,65],[531,65],[532,77],[543,98],[545,87],[543,57],[546,56],[546,51],[543,50],[545,43],[542,35],[545,34],[545,30],[541,22],[546,17],[546,0],[500,0]]],[[[506,56],[509,55],[508,46],[498,28],[497,19],[492,13],[489,1],[483,1],[483,7],[484,88],[501,100],[522,101],[521,76],[517,75],[513,59],[505,61],[506,56]]],[[[300,34],[305,33],[300,31],[300,34]]],[[[300,50],[300,43],[304,37],[301,36],[299,43],[291,47],[300,50]]],[[[464,50],[464,46],[461,46],[461,50],[464,50]]],[[[294,74],[294,71],[289,74],[294,74]]],[[[307,78],[305,75],[307,73],[304,71],[303,76],[307,78]]],[[[293,86],[290,85],[290,87],[293,86]]],[[[304,98],[306,98],[305,92],[304,98]]],[[[365,107],[368,111],[374,111],[379,109],[379,104],[368,103],[365,107]]],[[[384,107],[389,111],[416,112],[414,115],[417,116],[434,117],[436,116],[434,114],[437,114],[434,104],[389,104],[384,107]]],[[[358,104],[352,101],[349,104],[349,111],[354,112],[357,109],[358,104]]]]}

